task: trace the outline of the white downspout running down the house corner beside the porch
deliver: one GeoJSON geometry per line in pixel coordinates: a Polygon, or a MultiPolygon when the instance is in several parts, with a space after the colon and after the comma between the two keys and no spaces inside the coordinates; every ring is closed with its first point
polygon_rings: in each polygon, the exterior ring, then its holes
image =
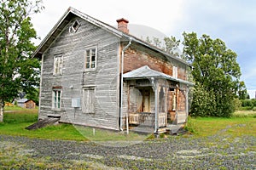
{"type": "MultiPolygon", "coordinates": [[[[121,54],[121,59],[122,59],[122,63],[121,63],[121,90],[120,90],[120,130],[123,131],[123,91],[124,91],[124,55],[125,55],[125,50],[131,45],[131,40],[132,38],[130,37],[130,41],[129,43],[125,46],[125,48],[122,49],[122,54],[121,54]]],[[[128,113],[126,113],[126,119],[127,119],[128,113]]],[[[128,121],[128,119],[126,120],[128,121]]],[[[129,125],[126,123],[126,126],[128,126],[127,128],[127,133],[129,133],[129,125]]]]}

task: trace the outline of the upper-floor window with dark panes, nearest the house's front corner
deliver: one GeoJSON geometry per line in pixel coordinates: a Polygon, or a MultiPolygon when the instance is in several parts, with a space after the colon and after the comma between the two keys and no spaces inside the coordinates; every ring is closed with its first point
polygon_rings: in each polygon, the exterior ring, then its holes
{"type": "Polygon", "coordinates": [[[96,48],[85,50],[85,69],[96,68],[96,48]]]}

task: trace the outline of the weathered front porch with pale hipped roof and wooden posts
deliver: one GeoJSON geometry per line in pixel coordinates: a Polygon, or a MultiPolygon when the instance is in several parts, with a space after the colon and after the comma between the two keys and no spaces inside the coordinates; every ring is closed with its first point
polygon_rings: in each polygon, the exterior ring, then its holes
{"type": "Polygon", "coordinates": [[[121,125],[127,131],[144,133],[177,132],[188,116],[189,87],[183,80],[143,66],[125,78],[125,116],[121,125]]]}

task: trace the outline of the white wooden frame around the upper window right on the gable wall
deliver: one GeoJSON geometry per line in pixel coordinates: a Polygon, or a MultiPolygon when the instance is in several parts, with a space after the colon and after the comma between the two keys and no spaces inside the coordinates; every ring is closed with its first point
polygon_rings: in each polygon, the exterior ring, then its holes
{"type": "Polygon", "coordinates": [[[97,65],[97,48],[96,48],[96,46],[91,46],[91,47],[85,48],[85,50],[84,50],[84,71],[96,71],[96,65],[97,65]],[[95,56],[94,56],[95,60],[94,61],[93,61],[93,50],[95,50],[95,56]]]}

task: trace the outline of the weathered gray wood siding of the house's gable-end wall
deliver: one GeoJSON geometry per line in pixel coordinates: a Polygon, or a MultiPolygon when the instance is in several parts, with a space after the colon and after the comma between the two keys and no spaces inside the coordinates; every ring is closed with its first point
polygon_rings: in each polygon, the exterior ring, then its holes
{"type": "Polygon", "coordinates": [[[61,114],[61,122],[92,127],[119,129],[119,37],[89,22],[73,18],[61,35],[44,53],[41,105],[39,118],[61,114]],[[70,32],[73,20],[79,30],[70,32]],[[96,70],[84,71],[85,48],[96,46],[96,70]],[[53,76],[55,54],[63,54],[62,75],[53,76]],[[61,111],[52,110],[52,87],[62,87],[61,111]],[[71,88],[73,87],[73,88],[71,88]],[[94,87],[95,113],[82,112],[83,88],[94,87]],[[81,107],[73,108],[72,99],[79,98],[81,107]]]}

